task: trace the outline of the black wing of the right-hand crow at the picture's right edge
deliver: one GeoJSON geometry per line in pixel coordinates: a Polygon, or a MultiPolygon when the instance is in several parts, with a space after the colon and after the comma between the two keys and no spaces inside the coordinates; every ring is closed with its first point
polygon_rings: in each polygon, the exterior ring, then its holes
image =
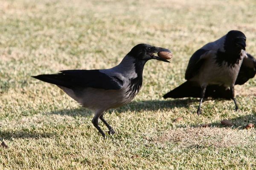
{"type": "Polygon", "coordinates": [[[243,59],[235,85],[243,85],[256,74],[256,59],[248,53],[246,55],[247,57],[243,59]]]}

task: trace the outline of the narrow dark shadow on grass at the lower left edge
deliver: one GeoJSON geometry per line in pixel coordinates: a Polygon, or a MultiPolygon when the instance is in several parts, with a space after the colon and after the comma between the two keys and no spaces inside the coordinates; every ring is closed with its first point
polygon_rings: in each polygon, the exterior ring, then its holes
{"type": "Polygon", "coordinates": [[[24,130],[16,130],[16,131],[10,131],[10,130],[0,130],[0,141],[3,141],[3,139],[7,140],[13,140],[17,138],[33,138],[33,139],[40,139],[40,138],[49,138],[50,136],[53,136],[52,133],[40,133],[40,132],[27,132],[24,130]]]}

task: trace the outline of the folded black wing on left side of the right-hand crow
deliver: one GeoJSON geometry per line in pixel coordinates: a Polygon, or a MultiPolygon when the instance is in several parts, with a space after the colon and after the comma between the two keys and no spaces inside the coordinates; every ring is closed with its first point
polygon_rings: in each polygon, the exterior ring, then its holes
{"type": "Polygon", "coordinates": [[[199,49],[195,51],[195,53],[190,57],[189,64],[186,68],[185,79],[189,80],[198,74],[199,69],[201,68],[202,64],[204,63],[205,58],[209,50],[199,49]]]}

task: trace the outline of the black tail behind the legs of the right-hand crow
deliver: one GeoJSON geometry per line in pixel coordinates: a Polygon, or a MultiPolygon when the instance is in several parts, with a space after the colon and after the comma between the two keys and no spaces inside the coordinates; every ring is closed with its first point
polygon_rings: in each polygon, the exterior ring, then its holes
{"type": "MultiPolygon", "coordinates": [[[[201,87],[194,82],[186,81],[177,88],[169,91],[167,94],[163,95],[163,98],[183,98],[183,97],[201,97],[201,87]]],[[[205,91],[204,98],[224,98],[231,99],[232,93],[230,89],[226,89],[224,86],[219,85],[208,85],[205,91]]]]}

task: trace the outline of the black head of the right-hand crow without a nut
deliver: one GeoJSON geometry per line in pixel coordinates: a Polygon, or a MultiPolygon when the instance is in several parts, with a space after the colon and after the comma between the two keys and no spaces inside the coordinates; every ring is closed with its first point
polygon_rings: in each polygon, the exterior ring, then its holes
{"type": "MultiPolygon", "coordinates": [[[[246,47],[246,37],[241,31],[229,31],[224,43],[224,49],[227,52],[239,52],[246,47]]],[[[233,53],[232,52],[232,53],[233,53]]]]}

